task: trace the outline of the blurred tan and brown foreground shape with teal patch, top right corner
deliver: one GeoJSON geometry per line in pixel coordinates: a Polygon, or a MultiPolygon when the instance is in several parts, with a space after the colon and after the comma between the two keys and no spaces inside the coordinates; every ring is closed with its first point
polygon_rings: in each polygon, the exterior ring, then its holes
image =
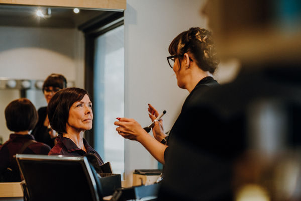
{"type": "Polygon", "coordinates": [[[222,60],[246,64],[299,62],[301,2],[210,0],[202,9],[222,60]]]}

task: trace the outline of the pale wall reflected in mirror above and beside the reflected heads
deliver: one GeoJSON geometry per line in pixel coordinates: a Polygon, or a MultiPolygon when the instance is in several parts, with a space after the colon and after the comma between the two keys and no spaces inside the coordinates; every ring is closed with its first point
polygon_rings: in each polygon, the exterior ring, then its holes
{"type": "MultiPolygon", "coordinates": [[[[75,29],[0,27],[0,77],[44,80],[63,74],[84,86],[84,38],[75,29]]],[[[0,137],[9,139],[4,110],[20,97],[19,90],[0,90],[0,137]]],[[[46,103],[46,102],[45,102],[46,103]]]]}

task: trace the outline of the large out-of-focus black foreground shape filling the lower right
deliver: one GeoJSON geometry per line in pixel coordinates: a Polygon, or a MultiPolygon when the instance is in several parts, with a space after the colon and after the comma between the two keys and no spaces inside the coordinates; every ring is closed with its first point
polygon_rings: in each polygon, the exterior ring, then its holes
{"type": "Polygon", "coordinates": [[[189,112],[158,200],[301,200],[301,68],[247,69],[189,112]]]}

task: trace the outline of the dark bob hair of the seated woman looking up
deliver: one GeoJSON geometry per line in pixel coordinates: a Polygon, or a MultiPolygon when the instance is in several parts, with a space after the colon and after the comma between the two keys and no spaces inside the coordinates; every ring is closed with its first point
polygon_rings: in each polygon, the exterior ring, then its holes
{"type": "Polygon", "coordinates": [[[50,126],[59,133],[66,133],[66,124],[71,106],[80,101],[88,92],[82,88],[70,87],[59,90],[50,99],[47,106],[47,115],[50,126]]]}

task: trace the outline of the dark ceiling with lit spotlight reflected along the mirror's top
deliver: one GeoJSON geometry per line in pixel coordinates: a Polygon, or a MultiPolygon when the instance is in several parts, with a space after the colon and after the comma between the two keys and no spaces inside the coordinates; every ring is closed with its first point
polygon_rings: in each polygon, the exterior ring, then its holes
{"type": "Polygon", "coordinates": [[[74,13],[70,8],[0,5],[0,26],[77,28],[108,12],[80,9],[74,13]],[[38,12],[44,17],[39,17],[38,12]]]}

